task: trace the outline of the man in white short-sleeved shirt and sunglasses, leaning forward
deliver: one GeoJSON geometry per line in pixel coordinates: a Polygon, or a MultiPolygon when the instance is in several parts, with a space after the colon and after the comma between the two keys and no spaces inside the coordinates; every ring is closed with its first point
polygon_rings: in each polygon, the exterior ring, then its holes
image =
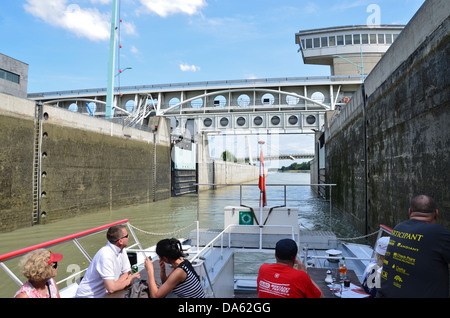
{"type": "Polygon", "coordinates": [[[76,293],[76,297],[98,298],[130,286],[139,272],[132,274],[124,248],[128,233],[124,225],[115,225],[106,234],[108,243],[95,254],[76,293]]]}

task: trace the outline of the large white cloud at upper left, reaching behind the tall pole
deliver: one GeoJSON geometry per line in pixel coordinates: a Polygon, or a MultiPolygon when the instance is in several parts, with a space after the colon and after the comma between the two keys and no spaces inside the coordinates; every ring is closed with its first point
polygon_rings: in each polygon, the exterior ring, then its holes
{"type": "MultiPolygon", "coordinates": [[[[107,3],[108,0],[93,2],[107,3]]],[[[80,8],[76,4],[67,5],[67,0],[27,0],[26,11],[44,22],[68,30],[92,41],[109,40],[110,13],[101,13],[96,8],[80,8]]],[[[134,25],[124,23],[126,33],[134,33],[134,25]]]]}

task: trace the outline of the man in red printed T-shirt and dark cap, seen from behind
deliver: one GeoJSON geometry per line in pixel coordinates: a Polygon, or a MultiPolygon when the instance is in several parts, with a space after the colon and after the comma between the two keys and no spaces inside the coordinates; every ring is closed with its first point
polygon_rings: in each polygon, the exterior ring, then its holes
{"type": "Polygon", "coordinates": [[[259,298],[319,298],[322,292],[297,259],[297,244],[283,239],[275,246],[275,264],[263,264],[258,273],[259,298]],[[298,269],[294,268],[298,264],[298,269]]]}

